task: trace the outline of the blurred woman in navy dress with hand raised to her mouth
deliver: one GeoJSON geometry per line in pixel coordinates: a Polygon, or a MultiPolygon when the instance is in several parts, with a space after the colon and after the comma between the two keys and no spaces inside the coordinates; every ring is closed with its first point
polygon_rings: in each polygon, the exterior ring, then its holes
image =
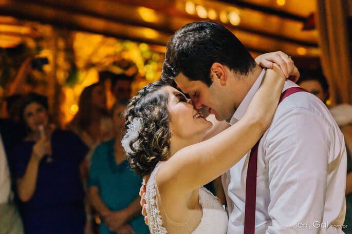
{"type": "Polygon", "coordinates": [[[28,134],[14,156],[25,233],[83,233],[80,165],[88,147],[75,133],[54,128],[45,96],[24,96],[20,113],[28,134]]]}

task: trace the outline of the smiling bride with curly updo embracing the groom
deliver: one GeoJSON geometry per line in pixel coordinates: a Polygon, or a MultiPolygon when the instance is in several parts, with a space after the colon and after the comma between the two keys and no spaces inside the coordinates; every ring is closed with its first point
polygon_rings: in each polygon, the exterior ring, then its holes
{"type": "Polygon", "coordinates": [[[212,127],[191,100],[162,82],[143,87],[126,108],[122,140],[146,184],[152,234],[226,234],[227,212],[203,185],[229,170],[269,127],[285,78],[268,69],[245,116],[202,141],[212,127]]]}

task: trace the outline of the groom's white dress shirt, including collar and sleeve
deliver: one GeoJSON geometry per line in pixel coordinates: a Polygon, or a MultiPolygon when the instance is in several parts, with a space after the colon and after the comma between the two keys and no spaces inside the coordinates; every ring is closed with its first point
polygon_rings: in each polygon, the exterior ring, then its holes
{"type": "MultiPolygon", "coordinates": [[[[265,70],[233,114],[243,117],[265,70]]],[[[286,81],[284,90],[297,86],[286,81]]],[[[249,153],[222,181],[228,234],[244,232],[249,153]]],[[[258,146],[255,233],[343,233],[346,147],[329,110],[314,95],[298,92],[277,107],[258,146]]]]}

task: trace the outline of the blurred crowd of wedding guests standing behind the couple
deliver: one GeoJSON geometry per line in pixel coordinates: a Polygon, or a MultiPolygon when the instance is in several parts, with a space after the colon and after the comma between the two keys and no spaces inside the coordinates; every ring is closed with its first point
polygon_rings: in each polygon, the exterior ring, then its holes
{"type": "MultiPolygon", "coordinates": [[[[138,195],[142,179],[129,169],[121,146],[131,77],[101,73],[110,90],[104,82],[86,87],[77,114],[61,129],[46,96],[17,92],[29,64],[19,69],[6,99],[7,116],[0,119],[0,233],[149,233],[138,195]],[[110,109],[107,92],[117,100],[110,109]]],[[[323,74],[303,71],[299,85],[328,100],[323,74]]],[[[349,152],[345,224],[352,227],[352,107],[330,111],[349,152]]],[[[207,187],[225,204],[219,179],[207,187]]]]}

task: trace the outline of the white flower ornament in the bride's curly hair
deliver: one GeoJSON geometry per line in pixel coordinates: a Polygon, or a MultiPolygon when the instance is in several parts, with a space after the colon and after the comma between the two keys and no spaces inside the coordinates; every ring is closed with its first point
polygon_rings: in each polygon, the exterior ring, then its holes
{"type": "MultiPolygon", "coordinates": [[[[140,118],[135,118],[133,119],[133,121],[131,122],[131,124],[127,125],[127,132],[126,134],[123,136],[123,139],[121,141],[121,145],[122,147],[125,149],[125,151],[127,153],[133,153],[131,147],[129,147],[129,143],[138,138],[139,136],[139,131],[142,129],[142,121],[140,118]]],[[[133,143],[133,147],[135,149],[139,148],[139,141],[136,141],[135,143],[133,143]]]]}

